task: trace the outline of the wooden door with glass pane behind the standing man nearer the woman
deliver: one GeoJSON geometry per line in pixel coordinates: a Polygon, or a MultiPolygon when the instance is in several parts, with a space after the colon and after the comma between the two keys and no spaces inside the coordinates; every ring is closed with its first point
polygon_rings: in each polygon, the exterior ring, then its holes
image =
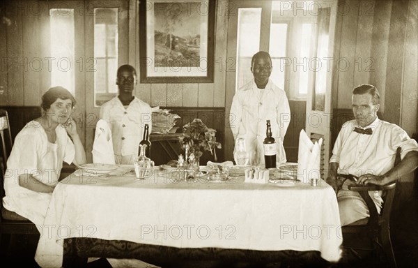
{"type": "MultiPolygon", "coordinates": [[[[85,6],[85,61],[84,72],[85,85],[85,106],[86,106],[86,156],[88,163],[92,162],[91,151],[95,125],[99,119],[100,105],[117,96],[116,70],[118,66],[128,64],[128,23],[129,1],[89,1],[85,6]],[[115,27],[116,25],[116,27],[115,27]],[[113,27],[112,27],[113,26],[113,27]],[[115,32],[117,29],[117,32],[115,32]],[[106,33],[100,36],[100,33],[106,33]],[[118,40],[112,42],[112,36],[118,40]],[[109,45],[103,45],[104,42],[109,45]],[[116,47],[116,55],[109,54],[109,50],[116,47]],[[116,60],[117,58],[117,60],[116,60]],[[102,90],[105,87],[106,90],[102,90]]],[[[134,36],[134,34],[132,34],[134,36]]],[[[114,50],[115,51],[115,50],[114,50]]]]}

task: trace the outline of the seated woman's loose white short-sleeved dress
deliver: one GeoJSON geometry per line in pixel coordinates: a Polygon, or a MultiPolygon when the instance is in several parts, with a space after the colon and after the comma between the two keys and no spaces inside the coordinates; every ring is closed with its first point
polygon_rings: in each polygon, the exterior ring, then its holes
{"type": "MultiPolygon", "coordinates": [[[[52,193],[38,193],[19,185],[19,176],[32,174],[31,182],[49,186],[58,184],[63,161],[70,164],[75,147],[67,131],[56,127],[56,141],[48,141],[47,133],[37,121],[30,121],[15,137],[4,176],[3,206],[42,226],[52,193]]],[[[29,179],[29,176],[28,176],[29,179]]]]}

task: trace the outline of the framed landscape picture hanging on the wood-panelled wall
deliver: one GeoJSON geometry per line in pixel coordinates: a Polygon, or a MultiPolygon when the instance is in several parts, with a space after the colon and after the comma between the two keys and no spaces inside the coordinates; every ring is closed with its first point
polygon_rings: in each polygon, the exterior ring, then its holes
{"type": "Polygon", "coordinates": [[[215,0],[139,3],[141,83],[212,83],[215,0]]]}

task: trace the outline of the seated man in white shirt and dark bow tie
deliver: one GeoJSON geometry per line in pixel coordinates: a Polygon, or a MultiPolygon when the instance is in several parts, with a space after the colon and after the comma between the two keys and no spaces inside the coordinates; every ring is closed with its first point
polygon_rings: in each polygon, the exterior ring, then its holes
{"type": "MultiPolygon", "coordinates": [[[[343,124],[330,158],[328,184],[334,188],[339,203],[341,225],[369,217],[366,203],[350,184],[385,185],[418,167],[418,144],[399,126],[378,118],[378,89],[362,84],[353,90],[355,120],[343,124]],[[401,162],[394,167],[396,149],[401,147],[401,162]]],[[[381,193],[370,191],[378,213],[381,193]]]]}

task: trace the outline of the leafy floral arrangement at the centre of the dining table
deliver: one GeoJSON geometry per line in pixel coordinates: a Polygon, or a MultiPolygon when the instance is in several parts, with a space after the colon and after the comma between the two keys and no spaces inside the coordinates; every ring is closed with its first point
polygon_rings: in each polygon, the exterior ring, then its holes
{"type": "Polygon", "coordinates": [[[210,151],[216,158],[215,148],[221,149],[221,144],[216,141],[215,129],[208,128],[201,119],[194,119],[192,123],[183,126],[183,135],[179,137],[183,149],[189,147],[189,154],[199,158],[203,151],[210,151]]]}

